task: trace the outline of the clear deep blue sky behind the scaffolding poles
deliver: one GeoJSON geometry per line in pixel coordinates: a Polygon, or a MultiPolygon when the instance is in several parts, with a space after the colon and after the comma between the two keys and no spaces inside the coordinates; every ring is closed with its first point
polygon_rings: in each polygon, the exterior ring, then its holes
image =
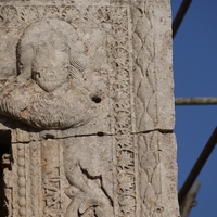
{"type": "MultiPolygon", "coordinates": [[[[170,0],[175,17],[182,0],[170,0]]],[[[175,97],[217,97],[217,1],[193,0],[174,39],[175,97]]],[[[176,106],[178,188],[217,126],[217,105],[176,106]]],[[[217,150],[197,180],[197,206],[190,217],[216,217],[217,150]]]]}

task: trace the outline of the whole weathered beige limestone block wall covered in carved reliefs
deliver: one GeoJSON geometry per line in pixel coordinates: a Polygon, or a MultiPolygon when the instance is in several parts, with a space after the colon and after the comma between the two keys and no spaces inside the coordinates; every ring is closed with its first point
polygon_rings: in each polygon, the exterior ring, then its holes
{"type": "Polygon", "coordinates": [[[175,217],[168,0],[0,0],[0,216],[175,217]]]}

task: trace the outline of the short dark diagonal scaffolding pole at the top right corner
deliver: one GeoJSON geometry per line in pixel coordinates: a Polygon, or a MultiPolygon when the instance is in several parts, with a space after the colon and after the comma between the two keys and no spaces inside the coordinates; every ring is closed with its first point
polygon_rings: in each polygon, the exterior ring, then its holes
{"type": "Polygon", "coordinates": [[[179,29],[179,26],[181,25],[181,22],[191,4],[191,1],[192,0],[183,0],[180,8],[179,8],[179,11],[173,22],[173,38],[175,37],[177,30],[179,29]]]}

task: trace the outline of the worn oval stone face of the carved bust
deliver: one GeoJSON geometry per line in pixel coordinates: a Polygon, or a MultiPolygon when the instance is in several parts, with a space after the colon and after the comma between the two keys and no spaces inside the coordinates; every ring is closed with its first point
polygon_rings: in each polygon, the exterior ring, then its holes
{"type": "Polygon", "coordinates": [[[40,48],[33,59],[31,76],[44,91],[52,92],[67,81],[68,67],[66,48],[40,48]]]}

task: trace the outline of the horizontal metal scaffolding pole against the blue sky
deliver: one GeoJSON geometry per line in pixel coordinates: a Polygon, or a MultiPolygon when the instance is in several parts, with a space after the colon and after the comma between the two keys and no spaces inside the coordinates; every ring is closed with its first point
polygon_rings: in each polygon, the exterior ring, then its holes
{"type": "Polygon", "coordinates": [[[217,98],[176,98],[176,105],[214,105],[217,98]]]}

